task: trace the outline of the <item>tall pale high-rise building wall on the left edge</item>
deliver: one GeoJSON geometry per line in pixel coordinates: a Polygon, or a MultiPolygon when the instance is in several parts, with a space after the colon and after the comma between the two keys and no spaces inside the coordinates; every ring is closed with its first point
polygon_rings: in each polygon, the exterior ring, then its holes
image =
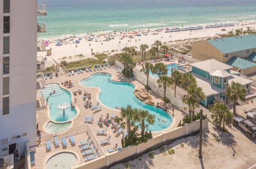
{"type": "Polygon", "coordinates": [[[37,1],[3,0],[0,13],[0,157],[19,159],[36,148],[37,1]]]}

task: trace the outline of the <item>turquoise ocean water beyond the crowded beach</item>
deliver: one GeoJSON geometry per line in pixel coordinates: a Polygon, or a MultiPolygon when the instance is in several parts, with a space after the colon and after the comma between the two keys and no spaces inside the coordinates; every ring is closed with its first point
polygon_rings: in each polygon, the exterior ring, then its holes
{"type": "Polygon", "coordinates": [[[38,0],[47,32],[39,37],[107,30],[177,27],[256,19],[255,0],[38,0]]]}

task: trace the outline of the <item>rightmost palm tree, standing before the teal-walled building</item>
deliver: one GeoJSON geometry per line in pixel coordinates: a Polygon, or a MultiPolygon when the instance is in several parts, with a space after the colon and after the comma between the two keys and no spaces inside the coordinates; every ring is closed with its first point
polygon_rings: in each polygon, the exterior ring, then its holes
{"type": "Polygon", "coordinates": [[[236,104],[238,99],[244,102],[246,95],[247,91],[240,83],[232,81],[231,85],[227,84],[226,96],[233,102],[234,115],[236,115],[236,104]]]}

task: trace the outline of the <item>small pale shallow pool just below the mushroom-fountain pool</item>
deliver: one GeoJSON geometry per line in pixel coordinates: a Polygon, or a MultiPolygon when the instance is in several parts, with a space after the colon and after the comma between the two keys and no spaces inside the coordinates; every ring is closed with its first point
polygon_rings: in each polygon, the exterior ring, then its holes
{"type": "Polygon", "coordinates": [[[60,132],[64,132],[67,131],[71,126],[71,122],[67,122],[67,123],[53,123],[53,122],[49,122],[46,125],[46,131],[49,133],[60,133],[60,132]]]}

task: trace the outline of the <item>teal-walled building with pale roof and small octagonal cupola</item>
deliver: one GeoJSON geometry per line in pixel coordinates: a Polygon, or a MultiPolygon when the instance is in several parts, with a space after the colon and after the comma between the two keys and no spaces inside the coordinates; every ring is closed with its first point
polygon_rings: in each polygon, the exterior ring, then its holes
{"type": "Polygon", "coordinates": [[[232,71],[232,66],[220,61],[210,59],[201,62],[191,63],[192,71],[197,85],[203,89],[205,99],[201,104],[205,107],[213,104],[216,97],[225,100],[227,84],[232,81],[241,83],[247,93],[250,94],[251,80],[239,76],[239,73],[232,71]]]}

